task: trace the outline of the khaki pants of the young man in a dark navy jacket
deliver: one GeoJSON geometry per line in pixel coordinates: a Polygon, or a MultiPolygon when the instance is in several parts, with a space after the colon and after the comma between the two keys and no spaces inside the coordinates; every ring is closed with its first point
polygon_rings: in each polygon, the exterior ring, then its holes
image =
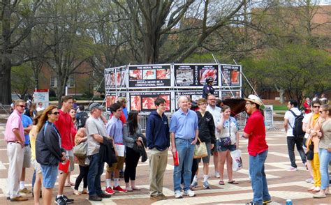
{"type": "Polygon", "coordinates": [[[156,196],[162,193],[163,176],[168,162],[168,149],[149,151],[149,194],[156,196]]]}

